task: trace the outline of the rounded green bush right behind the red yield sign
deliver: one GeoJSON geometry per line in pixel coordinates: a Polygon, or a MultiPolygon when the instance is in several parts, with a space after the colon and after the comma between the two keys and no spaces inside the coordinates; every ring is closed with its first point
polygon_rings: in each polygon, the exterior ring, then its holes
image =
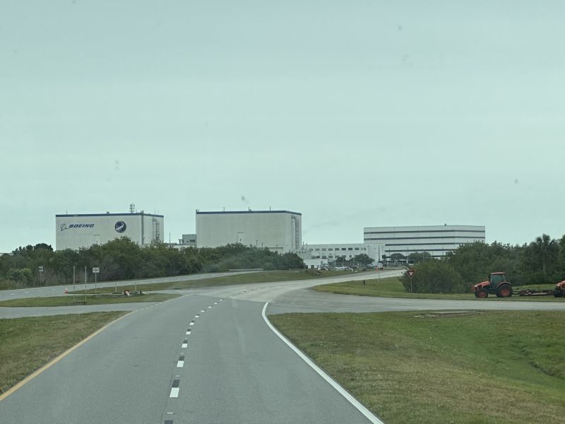
{"type": "MultiPolygon", "coordinates": [[[[429,260],[415,267],[412,277],[413,293],[466,293],[469,291],[463,278],[446,261],[429,260]]],[[[410,292],[410,278],[401,279],[407,292],[410,292]]]]}

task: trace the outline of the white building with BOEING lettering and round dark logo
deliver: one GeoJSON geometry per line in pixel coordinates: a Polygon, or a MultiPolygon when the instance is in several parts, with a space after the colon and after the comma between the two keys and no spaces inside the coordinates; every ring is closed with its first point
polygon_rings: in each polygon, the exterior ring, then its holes
{"type": "Polygon", "coordinates": [[[94,213],[55,216],[57,250],[103,245],[129,237],[139,245],[163,242],[164,217],[151,213],[94,213]]]}

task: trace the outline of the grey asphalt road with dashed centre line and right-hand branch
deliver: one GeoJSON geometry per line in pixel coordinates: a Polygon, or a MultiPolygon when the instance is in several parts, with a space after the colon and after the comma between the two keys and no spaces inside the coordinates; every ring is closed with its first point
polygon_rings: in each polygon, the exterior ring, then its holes
{"type": "MultiPolygon", "coordinates": [[[[383,277],[395,271],[386,272],[383,277]]],[[[379,423],[273,333],[262,317],[266,302],[268,313],[565,310],[565,302],[446,302],[309,290],[328,281],[336,280],[179,290],[180,298],[139,304],[0,401],[0,423],[379,423]]],[[[88,307],[76,308],[83,310],[88,307]]]]}

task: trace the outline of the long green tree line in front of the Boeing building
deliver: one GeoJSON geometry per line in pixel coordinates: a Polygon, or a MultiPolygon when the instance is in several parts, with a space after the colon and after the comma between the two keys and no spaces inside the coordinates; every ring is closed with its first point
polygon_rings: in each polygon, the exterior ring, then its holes
{"type": "Polygon", "coordinates": [[[304,261],[296,254],[278,254],[241,244],[175,249],[165,244],[141,247],[122,237],[78,250],[54,251],[45,243],[18,247],[11,255],[0,257],[0,281],[4,280],[6,287],[68,284],[73,282],[73,267],[76,281],[84,281],[85,267],[88,281],[94,281],[95,266],[100,268],[97,281],[114,281],[229,269],[300,269],[304,261]]]}

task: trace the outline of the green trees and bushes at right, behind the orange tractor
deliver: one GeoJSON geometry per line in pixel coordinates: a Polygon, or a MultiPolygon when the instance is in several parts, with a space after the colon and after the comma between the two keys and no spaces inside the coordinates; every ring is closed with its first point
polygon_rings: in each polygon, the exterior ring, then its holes
{"type": "MultiPolygon", "coordinates": [[[[565,279],[565,235],[547,234],[524,245],[474,242],[448,252],[444,259],[415,254],[412,291],[415,293],[468,293],[491,272],[503,271],[512,285],[557,283],[565,279]]],[[[410,278],[403,276],[410,290],[410,278]]]]}

